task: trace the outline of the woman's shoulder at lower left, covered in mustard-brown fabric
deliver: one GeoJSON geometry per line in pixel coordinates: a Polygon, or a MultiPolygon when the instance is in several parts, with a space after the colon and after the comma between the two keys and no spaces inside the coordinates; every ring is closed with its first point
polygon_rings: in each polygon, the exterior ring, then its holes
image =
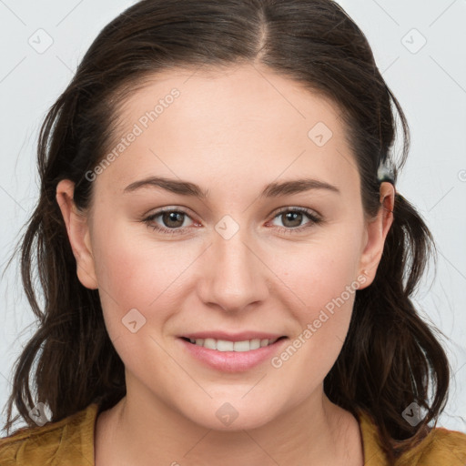
{"type": "Polygon", "coordinates": [[[0,439],[0,464],[45,465],[94,464],[94,428],[98,405],[92,403],[57,422],[22,428],[0,439]]]}

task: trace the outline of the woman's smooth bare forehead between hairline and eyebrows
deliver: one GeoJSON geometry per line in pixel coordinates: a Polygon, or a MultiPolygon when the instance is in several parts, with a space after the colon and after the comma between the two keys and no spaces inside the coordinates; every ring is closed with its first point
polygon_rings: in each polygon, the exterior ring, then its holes
{"type": "Polygon", "coordinates": [[[117,160],[105,176],[114,171],[128,183],[150,174],[270,181],[303,171],[335,181],[355,171],[339,107],[264,67],[165,70],[118,117],[108,150],[117,160]]]}

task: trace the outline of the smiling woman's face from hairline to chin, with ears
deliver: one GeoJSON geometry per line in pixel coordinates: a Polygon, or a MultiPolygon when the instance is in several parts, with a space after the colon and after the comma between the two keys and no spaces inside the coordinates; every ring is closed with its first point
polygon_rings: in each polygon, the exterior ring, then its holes
{"type": "Polygon", "coordinates": [[[364,220],[338,108],[238,66],[154,76],[120,119],[68,231],[127,398],[210,429],[319,403],[387,231],[364,220]]]}

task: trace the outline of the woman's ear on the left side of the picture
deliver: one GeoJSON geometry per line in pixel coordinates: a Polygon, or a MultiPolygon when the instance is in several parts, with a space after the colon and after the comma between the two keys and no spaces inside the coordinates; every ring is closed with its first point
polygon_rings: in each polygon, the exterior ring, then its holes
{"type": "Polygon", "coordinates": [[[62,179],[56,186],[56,202],[65,220],[68,239],[76,258],[77,278],[88,289],[97,289],[96,267],[92,254],[88,218],[76,208],[75,184],[62,179]]]}

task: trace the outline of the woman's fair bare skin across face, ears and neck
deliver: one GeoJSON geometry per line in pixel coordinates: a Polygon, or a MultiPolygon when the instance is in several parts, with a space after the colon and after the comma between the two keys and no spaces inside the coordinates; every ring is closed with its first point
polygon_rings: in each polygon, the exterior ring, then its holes
{"type": "MultiPolygon", "coordinates": [[[[153,102],[180,91],[96,177],[91,208],[77,211],[71,181],[56,189],[77,276],[99,289],[126,367],[127,396],[96,422],[96,465],[144,466],[155,458],[167,465],[360,465],[357,420],[323,392],[354,293],[279,369],[267,360],[237,373],[213,370],[177,336],[248,329],[286,335],[288,346],[363,271],[360,289],[370,286],[393,220],[394,189],[381,184],[383,208],[368,221],[346,127],[324,97],[258,66],[193,72],[163,72],[130,97],[121,136],[153,102]],[[322,147],[308,137],[318,122],[333,133],[322,147]],[[149,176],[196,183],[208,197],[160,187],[124,192],[149,176]],[[339,193],[259,196],[268,183],[301,177],[339,193]],[[168,235],[144,222],[163,207],[187,211],[185,232],[168,235]],[[303,215],[293,223],[277,212],[296,207],[323,221],[303,215]],[[225,215],[239,227],[228,239],[215,228],[225,215]],[[146,318],[136,333],[122,325],[129,309],[146,318]],[[226,402],[238,412],[228,426],[216,416],[226,402]]],[[[151,225],[170,228],[161,216],[151,225]]]]}

